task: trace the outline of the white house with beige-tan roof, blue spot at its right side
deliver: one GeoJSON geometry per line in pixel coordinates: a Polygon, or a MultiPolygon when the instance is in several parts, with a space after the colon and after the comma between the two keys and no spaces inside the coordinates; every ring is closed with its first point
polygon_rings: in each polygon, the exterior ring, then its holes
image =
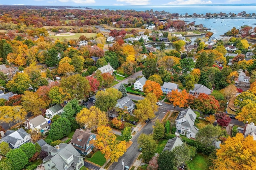
{"type": "Polygon", "coordinates": [[[40,130],[41,133],[48,131],[50,119],[44,118],[42,115],[38,115],[26,122],[26,129],[40,130]]]}

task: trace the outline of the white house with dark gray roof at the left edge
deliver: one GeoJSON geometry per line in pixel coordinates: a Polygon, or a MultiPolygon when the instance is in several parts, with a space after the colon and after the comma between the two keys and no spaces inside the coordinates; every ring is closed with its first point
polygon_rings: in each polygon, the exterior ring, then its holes
{"type": "Polygon", "coordinates": [[[16,131],[8,130],[6,133],[1,131],[0,133],[2,136],[0,143],[3,141],[7,142],[11,149],[19,148],[20,145],[31,141],[31,135],[26,133],[26,131],[24,131],[22,128],[16,131]]]}

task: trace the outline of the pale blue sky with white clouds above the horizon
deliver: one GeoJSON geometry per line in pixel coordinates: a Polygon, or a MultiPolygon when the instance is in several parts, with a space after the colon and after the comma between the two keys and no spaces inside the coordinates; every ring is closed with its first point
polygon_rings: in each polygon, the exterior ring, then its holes
{"type": "Polygon", "coordinates": [[[255,0],[0,0],[3,5],[36,6],[118,6],[118,5],[198,5],[253,4],[255,0]]]}

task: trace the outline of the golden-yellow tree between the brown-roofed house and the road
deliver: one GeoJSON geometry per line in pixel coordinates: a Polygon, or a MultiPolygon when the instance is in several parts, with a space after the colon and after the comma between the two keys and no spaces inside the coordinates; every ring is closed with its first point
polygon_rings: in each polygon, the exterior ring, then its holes
{"type": "Polygon", "coordinates": [[[94,145],[100,149],[102,154],[105,154],[106,159],[117,162],[118,158],[126,152],[126,142],[118,142],[116,135],[112,133],[112,129],[108,126],[99,126],[97,132],[97,140],[93,141],[94,145]]]}

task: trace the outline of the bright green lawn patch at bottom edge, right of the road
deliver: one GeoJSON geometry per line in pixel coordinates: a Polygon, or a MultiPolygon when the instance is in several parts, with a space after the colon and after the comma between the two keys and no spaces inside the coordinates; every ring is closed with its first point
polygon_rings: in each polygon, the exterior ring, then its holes
{"type": "Polygon", "coordinates": [[[208,170],[207,156],[204,154],[196,154],[194,159],[188,164],[188,170],[208,170]]]}

